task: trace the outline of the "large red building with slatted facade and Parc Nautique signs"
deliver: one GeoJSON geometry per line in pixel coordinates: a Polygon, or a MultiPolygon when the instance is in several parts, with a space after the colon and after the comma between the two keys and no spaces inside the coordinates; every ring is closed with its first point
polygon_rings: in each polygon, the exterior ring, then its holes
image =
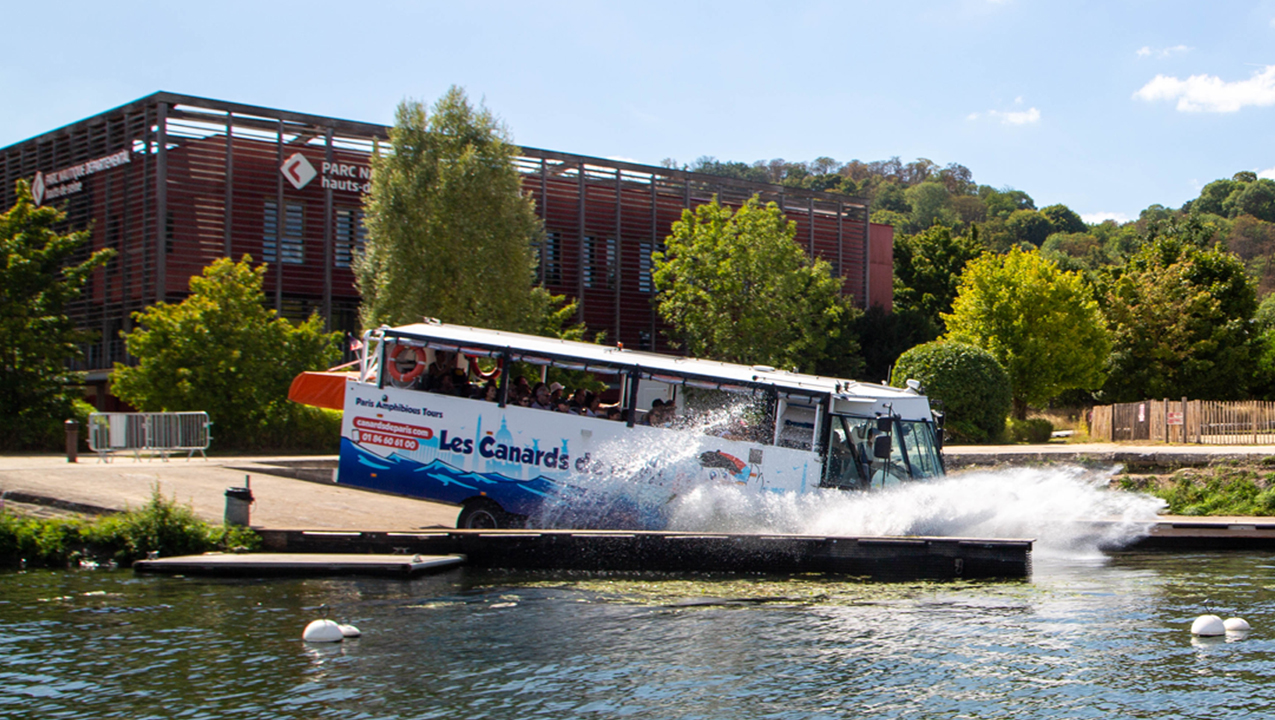
{"type": "MultiPolygon", "coordinates": [[[[119,252],[70,307],[99,331],[82,370],[106,401],[108,370],[129,362],[120,331],[131,313],[180,302],[218,257],[266,263],[282,315],[319,311],[330,329],[357,331],[351,259],[363,242],[368,158],[388,136],[382,125],[156,93],[0,149],[0,204],[27,180],[38,203],[66,209],[66,229],[91,228],[92,248],[119,252]]],[[[612,342],[669,349],[650,254],[683,209],[713,196],[778,203],[858,306],[891,305],[892,229],[870,226],[858,199],[534,148],[516,166],[544,219],[541,283],[579,299],[584,322],[612,342]]]]}

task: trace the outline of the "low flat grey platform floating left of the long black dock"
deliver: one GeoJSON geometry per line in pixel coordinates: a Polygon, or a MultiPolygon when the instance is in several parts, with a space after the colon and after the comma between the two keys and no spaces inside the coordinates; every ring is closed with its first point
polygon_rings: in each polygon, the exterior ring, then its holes
{"type": "Polygon", "coordinates": [[[458,556],[337,554],[337,553],[207,553],[133,563],[136,572],[263,577],[280,575],[382,575],[412,577],[459,567],[458,556]]]}

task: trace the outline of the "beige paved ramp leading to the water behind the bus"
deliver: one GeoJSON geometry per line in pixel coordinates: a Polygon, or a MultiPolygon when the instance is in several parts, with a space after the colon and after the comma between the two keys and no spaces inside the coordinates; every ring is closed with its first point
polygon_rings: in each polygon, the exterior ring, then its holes
{"type": "MultiPolygon", "coordinates": [[[[288,463],[306,460],[286,457],[288,463]]],[[[335,457],[314,457],[314,461],[335,457]]],[[[265,474],[270,457],[158,459],[129,456],[101,463],[93,455],[70,464],[65,456],[0,456],[0,492],[56,500],[87,508],[126,510],[150,500],[152,489],[190,505],[209,522],[221,522],[226,488],[251,477],[251,524],[309,530],[417,530],[455,528],[459,508],[388,494],[265,474]]]]}

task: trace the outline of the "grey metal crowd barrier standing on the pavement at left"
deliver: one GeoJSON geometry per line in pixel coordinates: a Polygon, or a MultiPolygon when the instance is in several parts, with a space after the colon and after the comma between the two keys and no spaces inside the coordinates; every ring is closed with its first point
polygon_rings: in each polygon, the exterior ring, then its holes
{"type": "Polygon", "coordinates": [[[92,413],[88,417],[88,446],[99,460],[115,452],[156,454],[168,460],[173,452],[204,452],[212,441],[208,413],[92,413]]]}

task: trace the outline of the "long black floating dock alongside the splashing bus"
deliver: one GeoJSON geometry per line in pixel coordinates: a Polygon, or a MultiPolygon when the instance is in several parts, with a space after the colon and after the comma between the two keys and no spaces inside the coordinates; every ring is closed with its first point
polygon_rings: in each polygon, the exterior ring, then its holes
{"type": "Polygon", "coordinates": [[[258,531],[265,549],[277,553],[463,556],[467,566],[482,568],[817,572],[881,580],[1016,579],[1031,572],[1031,540],[1016,539],[611,530],[258,531]]]}

